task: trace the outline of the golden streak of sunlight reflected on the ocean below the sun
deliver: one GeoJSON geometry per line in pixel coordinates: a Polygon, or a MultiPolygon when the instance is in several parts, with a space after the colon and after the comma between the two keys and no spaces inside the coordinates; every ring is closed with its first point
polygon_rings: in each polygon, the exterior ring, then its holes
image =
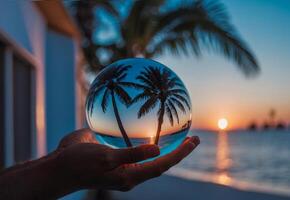
{"type": "Polygon", "coordinates": [[[232,178],[229,176],[229,168],[232,165],[230,159],[228,133],[219,132],[216,151],[216,182],[222,185],[231,185],[232,178]]]}

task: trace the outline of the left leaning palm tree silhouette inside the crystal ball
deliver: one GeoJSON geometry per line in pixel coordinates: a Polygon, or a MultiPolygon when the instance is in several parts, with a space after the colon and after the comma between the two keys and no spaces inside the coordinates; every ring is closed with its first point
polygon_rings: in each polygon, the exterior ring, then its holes
{"type": "MultiPolygon", "coordinates": [[[[116,104],[116,98],[120,100],[126,106],[131,104],[131,97],[126,92],[124,87],[134,87],[134,83],[124,81],[127,76],[127,70],[131,68],[130,65],[119,65],[115,67],[109,67],[99,75],[98,81],[94,82],[92,89],[89,91],[87,100],[87,109],[89,115],[92,115],[94,109],[94,101],[98,96],[101,96],[101,107],[105,113],[108,107],[109,97],[111,97],[114,114],[120,129],[120,132],[124,138],[124,141],[128,147],[132,146],[132,143],[124,129],[122,124],[118,107],[116,104]]],[[[90,122],[89,122],[90,123],[90,122]]]]}

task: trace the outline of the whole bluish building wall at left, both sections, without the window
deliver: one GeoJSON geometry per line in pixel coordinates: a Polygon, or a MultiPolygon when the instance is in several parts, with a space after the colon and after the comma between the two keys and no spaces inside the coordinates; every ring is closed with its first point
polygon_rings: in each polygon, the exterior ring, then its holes
{"type": "MultiPolygon", "coordinates": [[[[1,1],[0,40],[35,67],[36,156],[41,157],[77,127],[76,44],[49,31],[37,7],[27,0],[1,1]]],[[[82,195],[78,192],[62,199],[81,199],[82,195]]]]}

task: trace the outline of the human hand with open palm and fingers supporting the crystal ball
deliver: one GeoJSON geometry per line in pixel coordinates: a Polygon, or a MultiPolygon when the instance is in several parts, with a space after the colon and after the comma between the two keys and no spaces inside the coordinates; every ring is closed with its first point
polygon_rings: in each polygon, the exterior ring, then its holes
{"type": "Polygon", "coordinates": [[[78,188],[127,191],[160,176],[191,153],[199,142],[198,137],[188,137],[173,152],[153,161],[137,163],[158,156],[158,146],[112,149],[99,144],[89,129],[82,129],[60,142],[58,163],[65,177],[78,188]]]}

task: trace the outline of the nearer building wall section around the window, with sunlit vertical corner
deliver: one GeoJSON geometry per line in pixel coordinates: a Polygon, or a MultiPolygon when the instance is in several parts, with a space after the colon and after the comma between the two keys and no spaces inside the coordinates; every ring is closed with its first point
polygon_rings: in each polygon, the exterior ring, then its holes
{"type": "MultiPolygon", "coordinates": [[[[0,35],[35,67],[36,156],[46,153],[44,52],[46,23],[31,1],[1,1],[0,35]]],[[[12,49],[13,50],[13,49],[12,49]]]]}

